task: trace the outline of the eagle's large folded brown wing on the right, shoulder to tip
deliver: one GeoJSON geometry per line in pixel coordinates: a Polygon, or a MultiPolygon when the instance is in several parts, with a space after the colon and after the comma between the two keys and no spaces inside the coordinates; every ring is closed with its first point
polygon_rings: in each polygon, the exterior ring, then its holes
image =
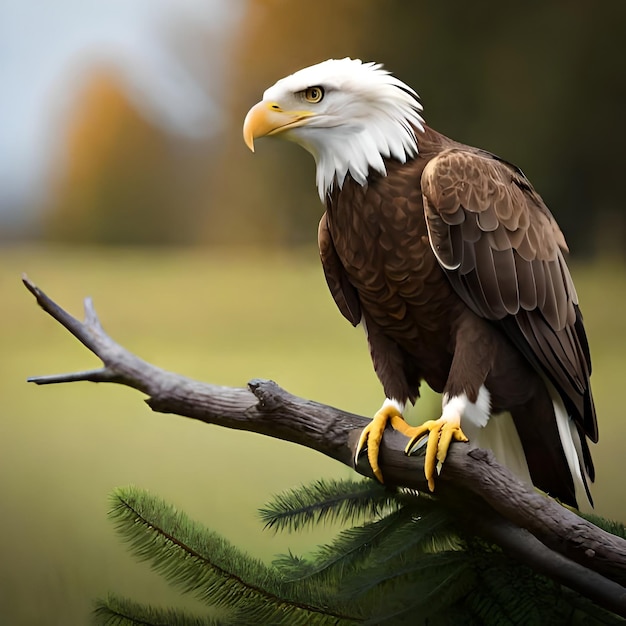
{"type": "Polygon", "coordinates": [[[421,187],[430,243],[455,291],[503,327],[596,441],[591,360],[567,246],[540,196],[519,169],[462,148],[429,161],[421,187]]]}

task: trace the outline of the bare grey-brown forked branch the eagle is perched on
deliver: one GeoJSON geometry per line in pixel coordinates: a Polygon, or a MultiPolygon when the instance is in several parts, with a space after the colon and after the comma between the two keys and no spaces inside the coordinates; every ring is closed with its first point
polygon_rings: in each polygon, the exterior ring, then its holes
{"type": "MultiPolygon", "coordinates": [[[[253,380],[243,389],[168,372],[113,341],[104,332],[90,299],[85,300],[85,321],[80,322],[26,276],[23,282],[41,308],[103,364],[83,372],[36,376],[30,382],[126,385],[145,393],[154,411],[298,443],[354,467],[356,444],[368,418],[299,398],[272,381],[253,380]]],[[[406,456],[405,445],[400,433],[391,429],[385,433],[379,462],[386,483],[425,491],[423,455],[406,456]]],[[[373,478],[364,456],[355,469],[373,478]]],[[[456,507],[476,534],[626,617],[626,541],[533,490],[498,465],[491,453],[464,444],[452,446],[439,476],[437,495],[446,506],[456,507]]]]}

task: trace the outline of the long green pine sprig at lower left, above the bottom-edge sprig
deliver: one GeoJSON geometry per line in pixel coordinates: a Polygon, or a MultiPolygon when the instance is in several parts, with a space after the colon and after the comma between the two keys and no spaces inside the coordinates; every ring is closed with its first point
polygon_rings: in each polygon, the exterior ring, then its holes
{"type": "Polygon", "coordinates": [[[160,498],[132,487],[112,494],[111,518],[140,560],[170,584],[202,602],[235,612],[229,620],[258,623],[353,623],[323,589],[286,584],[261,561],[192,522],[160,498]]]}

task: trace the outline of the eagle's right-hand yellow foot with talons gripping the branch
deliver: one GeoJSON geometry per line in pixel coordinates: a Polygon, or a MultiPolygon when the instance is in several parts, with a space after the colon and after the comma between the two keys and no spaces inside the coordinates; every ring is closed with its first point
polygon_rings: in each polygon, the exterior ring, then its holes
{"type": "Polygon", "coordinates": [[[428,420],[421,426],[411,429],[411,440],[407,444],[404,452],[410,455],[424,444],[425,437],[428,437],[426,444],[426,456],[424,458],[424,474],[428,481],[430,491],[435,490],[435,471],[437,475],[441,472],[443,462],[446,460],[448,448],[452,441],[469,441],[465,433],[461,430],[461,418],[440,417],[438,420],[428,420]]]}

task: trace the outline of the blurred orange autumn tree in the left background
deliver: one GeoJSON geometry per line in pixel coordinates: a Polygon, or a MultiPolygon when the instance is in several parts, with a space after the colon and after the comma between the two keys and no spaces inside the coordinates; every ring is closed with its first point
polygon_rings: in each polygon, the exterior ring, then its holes
{"type": "Polygon", "coordinates": [[[91,74],[59,159],[45,234],[99,244],[189,241],[197,152],[143,118],[115,73],[91,74]]]}

